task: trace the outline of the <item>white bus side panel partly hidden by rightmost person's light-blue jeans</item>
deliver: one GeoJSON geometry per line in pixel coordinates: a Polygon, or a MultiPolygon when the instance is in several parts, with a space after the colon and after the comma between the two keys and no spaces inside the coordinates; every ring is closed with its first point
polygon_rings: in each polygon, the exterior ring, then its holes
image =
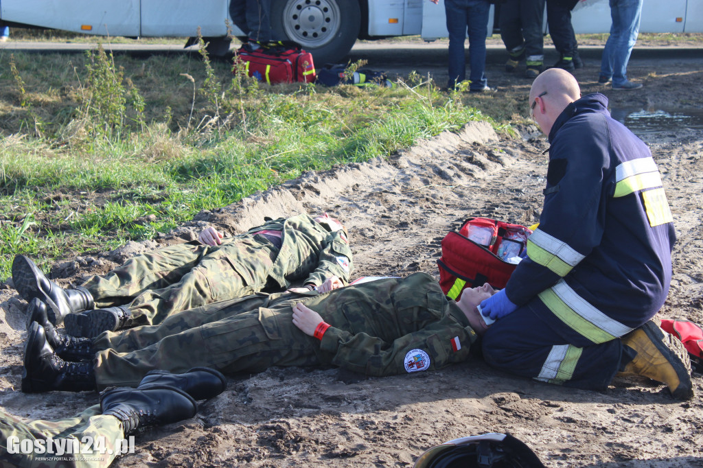
{"type": "MultiPolygon", "coordinates": [[[[700,3],[699,1],[697,3],[700,3]]],[[[640,32],[683,32],[686,0],[645,1],[642,6],[640,32]]],[[[599,34],[610,32],[610,6],[607,0],[586,1],[572,13],[572,25],[576,34],[599,34]]]]}

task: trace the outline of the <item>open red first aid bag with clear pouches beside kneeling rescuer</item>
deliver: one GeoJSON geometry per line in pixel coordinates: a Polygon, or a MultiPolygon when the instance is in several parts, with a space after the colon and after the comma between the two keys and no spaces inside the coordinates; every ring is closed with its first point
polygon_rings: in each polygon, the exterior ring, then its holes
{"type": "Polygon", "coordinates": [[[527,255],[532,233],[520,224],[489,218],[470,218],[459,232],[441,241],[439,285],[450,299],[458,300],[466,287],[505,287],[515,266],[527,255]]]}

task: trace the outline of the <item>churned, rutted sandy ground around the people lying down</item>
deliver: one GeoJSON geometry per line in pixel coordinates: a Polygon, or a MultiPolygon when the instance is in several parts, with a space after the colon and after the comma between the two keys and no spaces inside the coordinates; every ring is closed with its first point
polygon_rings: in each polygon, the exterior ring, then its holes
{"type": "MultiPolygon", "coordinates": [[[[633,63],[631,78],[645,82],[640,91],[617,93],[593,84],[598,70],[591,59],[576,77],[584,93],[604,91],[617,107],[700,110],[701,61],[633,63]]],[[[482,99],[527,103],[527,80],[503,74],[499,64],[489,65],[489,76],[498,92],[482,99]]],[[[534,126],[518,130],[520,136],[511,138],[488,124],[470,124],[387,160],[304,174],[203,212],[154,241],[67,259],[52,275],[63,285],[80,282],[145,249],[191,239],[210,223],[236,233],[264,216],[326,211],[349,226],[356,275],[427,271],[438,277],[439,242],[467,217],[538,220],[548,145],[534,126]]],[[[678,235],[671,294],[660,315],[703,323],[703,131],[679,127],[641,137],[662,171],[678,235]]],[[[0,306],[0,406],[32,419],[96,403],[90,392],[19,391],[26,304],[6,284],[0,306]]],[[[528,443],[548,467],[698,467],[701,377],[693,377],[695,398],[682,403],[654,382],[579,391],[512,377],[480,358],[439,372],[359,382],[334,369],[273,368],[231,377],[225,393],[202,403],[191,420],[138,434],[136,453],[115,466],[409,467],[437,443],[497,431],[528,443]]]]}

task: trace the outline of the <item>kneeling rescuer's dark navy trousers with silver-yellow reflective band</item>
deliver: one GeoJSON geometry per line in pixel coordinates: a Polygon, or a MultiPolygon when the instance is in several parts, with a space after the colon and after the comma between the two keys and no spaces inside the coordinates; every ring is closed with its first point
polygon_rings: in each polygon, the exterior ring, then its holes
{"type": "Polygon", "coordinates": [[[605,389],[618,372],[623,345],[619,338],[594,344],[580,334],[562,333],[522,306],[484,334],[489,365],[541,382],[579,389],[605,389]]]}

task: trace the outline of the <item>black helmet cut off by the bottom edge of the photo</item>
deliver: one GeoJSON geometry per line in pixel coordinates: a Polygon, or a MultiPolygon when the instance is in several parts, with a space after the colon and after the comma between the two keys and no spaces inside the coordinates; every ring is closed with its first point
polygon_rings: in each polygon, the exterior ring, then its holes
{"type": "Polygon", "coordinates": [[[414,468],[544,468],[537,455],[510,434],[455,438],[420,455],[414,468]]]}

